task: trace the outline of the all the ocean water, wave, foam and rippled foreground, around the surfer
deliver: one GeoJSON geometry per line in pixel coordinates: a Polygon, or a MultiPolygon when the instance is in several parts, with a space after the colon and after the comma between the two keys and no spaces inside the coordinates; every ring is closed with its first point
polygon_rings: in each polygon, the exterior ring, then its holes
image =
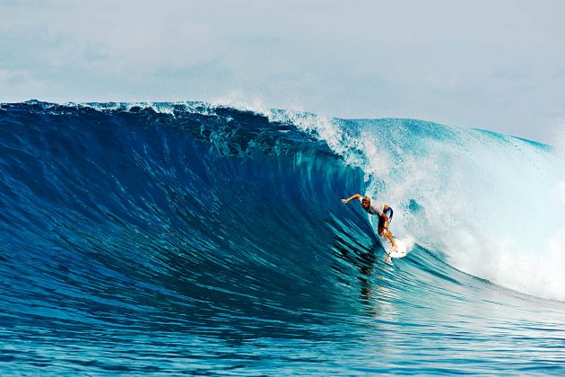
{"type": "Polygon", "coordinates": [[[411,119],[0,105],[4,373],[563,373],[548,145],[411,119]],[[413,242],[383,262],[367,193],[413,242]]]}

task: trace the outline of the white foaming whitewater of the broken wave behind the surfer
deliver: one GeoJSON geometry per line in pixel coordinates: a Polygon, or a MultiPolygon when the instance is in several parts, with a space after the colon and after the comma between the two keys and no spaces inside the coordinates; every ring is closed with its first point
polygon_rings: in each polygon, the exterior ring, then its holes
{"type": "Polygon", "coordinates": [[[395,206],[393,232],[453,266],[526,294],[565,301],[565,169],[559,154],[516,138],[435,126],[368,125],[347,139],[313,124],[337,153],[354,156],[369,194],[395,206]],[[416,138],[416,140],[414,140],[416,138]],[[343,143],[345,142],[345,144],[343,143]],[[420,210],[408,210],[411,200],[420,210]]]}

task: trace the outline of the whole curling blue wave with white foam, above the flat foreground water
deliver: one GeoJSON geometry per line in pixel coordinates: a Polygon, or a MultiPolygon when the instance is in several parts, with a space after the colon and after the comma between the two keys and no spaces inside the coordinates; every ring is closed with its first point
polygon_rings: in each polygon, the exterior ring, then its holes
{"type": "Polygon", "coordinates": [[[331,342],[365,311],[394,323],[399,297],[422,312],[485,286],[510,306],[565,301],[549,145],[413,119],[28,101],[0,105],[0,163],[3,329],[331,342]],[[340,202],[356,192],[414,240],[394,266],[340,202]]]}

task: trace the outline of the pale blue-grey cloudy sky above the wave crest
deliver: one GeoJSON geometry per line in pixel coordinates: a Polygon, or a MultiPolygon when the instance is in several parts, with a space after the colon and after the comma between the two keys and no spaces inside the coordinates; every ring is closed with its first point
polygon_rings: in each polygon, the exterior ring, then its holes
{"type": "Polygon", "coordinates": [[[0,0],[0,102],[209,101],[553,145],[561,0],[0,0]]]}

